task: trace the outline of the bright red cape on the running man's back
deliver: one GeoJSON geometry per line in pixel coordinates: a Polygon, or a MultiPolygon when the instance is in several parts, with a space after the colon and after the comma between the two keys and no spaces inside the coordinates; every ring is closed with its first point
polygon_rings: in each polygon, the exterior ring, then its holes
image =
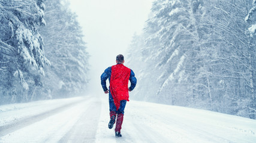
{"type": "Polygon", "coordinates": [[[110,92],[116,105],[116,110],[120,107],[121,100],[129,101],[128,82],[131,69],[123,64],[116,64],[111,68],[110,92]]]}

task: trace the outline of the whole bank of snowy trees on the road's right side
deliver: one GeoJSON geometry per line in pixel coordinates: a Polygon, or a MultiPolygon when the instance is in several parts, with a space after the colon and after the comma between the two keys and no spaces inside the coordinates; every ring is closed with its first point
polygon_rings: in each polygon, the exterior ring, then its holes
{"type": "Polygon", "coordinates": [[[158,0],[127,62],[132,98],[256,119],[256,1],[158,0]]]}

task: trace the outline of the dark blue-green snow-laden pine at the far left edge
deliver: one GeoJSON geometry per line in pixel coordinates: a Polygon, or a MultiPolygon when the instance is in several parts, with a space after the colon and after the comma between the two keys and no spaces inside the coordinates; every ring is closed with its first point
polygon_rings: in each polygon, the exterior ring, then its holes
{"type": "Polygon", "coordinates": [[[43,0],[0,1],[1,102],[28,101],[31,86],[44,75],[44,42],[37,27],[45,25],[43,0]]]}

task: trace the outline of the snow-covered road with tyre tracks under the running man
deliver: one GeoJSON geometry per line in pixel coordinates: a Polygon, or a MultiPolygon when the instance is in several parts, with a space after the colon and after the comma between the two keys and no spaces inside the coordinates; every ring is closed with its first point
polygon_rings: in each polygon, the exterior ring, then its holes
{"type": "Polygon", "coordinates": [[[256,142],[256,120],[129,101],[122,138],[108,129],[107,96],[0,106],[0,142],[256,142]]]}

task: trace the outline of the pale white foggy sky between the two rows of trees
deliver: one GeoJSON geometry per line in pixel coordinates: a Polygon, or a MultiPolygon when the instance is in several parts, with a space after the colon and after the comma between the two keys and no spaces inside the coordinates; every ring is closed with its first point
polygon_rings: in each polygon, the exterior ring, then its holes
{"type": "Polygon", "coordinates": [[[94,92],[103,93],[101,73],[116,64],[134,33],[141,33],[153,0],[70,0],[71,9],[83,27],[87,51],[91,54],[91,82],[94,92]],[[94,87],[94,88],[93,88],[94,87]]]}

